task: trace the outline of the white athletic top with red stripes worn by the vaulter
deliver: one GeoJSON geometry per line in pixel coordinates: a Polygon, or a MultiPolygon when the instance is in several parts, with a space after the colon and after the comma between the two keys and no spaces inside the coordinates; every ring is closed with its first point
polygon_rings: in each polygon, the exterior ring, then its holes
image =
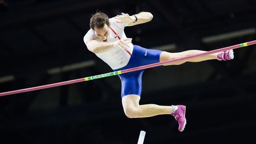
{"type": "MultiPolygon", "coordinates": [[[[108,37],[108,42],[117,41],[119,39],[125,39],[126,34],[124,33],[124,27],[127,26],[127,24],[120,24],[117,23],[115,18],[110,18],[110,30],[108,31],[110,33],[108,37]]],[[[102,42],[100,39],[98,39],[97,36],[95,36],[94,30],[90,29],[87,34],[84,36],[84,42],[85,44],[89,40],[97,40],[99,42],[102,42]]],[[[88,47],[88,46],[87,46],[88,47]]],[[[127,65],[127,63],[130,60],[130,55],[133,51],[133,44],[130,43],[129,47],[127,48],[128,51],[121,49],[120,47],[113,47],[112,49],[108,50],[107,52],[102,53],[95,53],[100,59],[102,59],[105,63],[107,63],[112,69],[119,69],[123,68],[127,65]]]]}

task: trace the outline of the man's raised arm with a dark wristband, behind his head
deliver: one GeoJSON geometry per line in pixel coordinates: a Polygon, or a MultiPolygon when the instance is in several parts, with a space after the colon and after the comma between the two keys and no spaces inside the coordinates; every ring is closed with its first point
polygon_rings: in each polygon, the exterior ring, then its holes
{"type": "Polygon", "coordinates": [[[153,15],[151,12],[140,12],[139,14],[129,15],[121,13],[122,15],[117,15],[117,23],[127,24],[128,26],[133,26],[137,24],[147,23],[152,20],[153,15]]]}

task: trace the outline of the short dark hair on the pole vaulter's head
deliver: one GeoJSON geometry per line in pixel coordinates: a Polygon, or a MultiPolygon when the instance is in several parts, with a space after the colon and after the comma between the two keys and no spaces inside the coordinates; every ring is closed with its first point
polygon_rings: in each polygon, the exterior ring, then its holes
{"type": "Polygon", "coordinates": [[[106,14],[100,11],[92,15],[90,20],[90,27],[92,28],[92,30],[94,30],[95,27],[103,28],[105,24],[107,24],[108,27],[110,26],[110,22],[106,14]]]}

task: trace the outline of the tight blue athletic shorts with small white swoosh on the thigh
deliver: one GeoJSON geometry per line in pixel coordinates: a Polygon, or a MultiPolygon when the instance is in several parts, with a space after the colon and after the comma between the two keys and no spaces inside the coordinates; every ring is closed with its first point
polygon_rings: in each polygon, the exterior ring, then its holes
{"type": "MultiPolygon", "coordinates": [[[[160,61],[161,53],[161,50],[145,49],[143,47],[133,45],[132,56],[130,57],[127,65],[120,69],[114,69],[114,71],[121,71],[123,69],[158,63],[160,61]]],[[[122,98],[129,94],[140,96],[142,92],[142,73],[144,70],[145,69],[119,75],[119,78],[121,79],[122,98]]]]}

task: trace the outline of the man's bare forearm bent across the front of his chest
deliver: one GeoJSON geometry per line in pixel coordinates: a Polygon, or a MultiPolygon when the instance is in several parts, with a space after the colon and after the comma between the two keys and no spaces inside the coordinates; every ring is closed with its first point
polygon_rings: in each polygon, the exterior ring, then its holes
{"type": "Polygon", "coordinates": [[[123,40],[117,40],[114,42],[99,42],[97,40],[85,41],[89,51],[93,53],[103,53],[112,49],[113,47],[120,47],[121,49],[126,49],[129,47],[129,43],[132,43],[132,39],[127,38],[123,40]]]}

